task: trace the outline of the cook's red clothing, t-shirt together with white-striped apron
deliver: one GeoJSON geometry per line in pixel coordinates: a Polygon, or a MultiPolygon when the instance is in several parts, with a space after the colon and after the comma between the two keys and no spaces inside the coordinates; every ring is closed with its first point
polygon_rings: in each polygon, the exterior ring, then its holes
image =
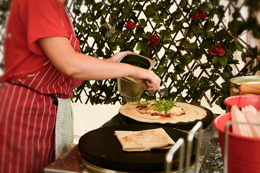
{"type": "Polygon", "coordinates": [[[37,39],[68,37],[76,52],[79,41],[66,7],[57,0],[13,0],[5,35],[0,172],[43,172],[55,158],[57,112],[54,99],[46,94],[71,98],[82,80],[59,72],[37,39]]]}

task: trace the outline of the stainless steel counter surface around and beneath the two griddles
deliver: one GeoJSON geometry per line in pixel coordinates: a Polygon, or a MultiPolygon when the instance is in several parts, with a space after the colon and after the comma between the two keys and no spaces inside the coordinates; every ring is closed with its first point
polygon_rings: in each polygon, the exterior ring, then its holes
{"type": "MultiPolygon", "coordinates": [[[[214,114],[214,117],[216,115],[214,114]]],[[[119,114],[115,115],[112,119],[107,121],[101,127],[113,126],[122,124],[120,122],[119,114]]],[[[100,127],[100,128],[101,128],[100,127]]],[[[189,131],[186,131],[189,132],[189,131]]],[[[195,137],[197,134],[195,135],[195,137]]],[[[47,168],[44,169],[46,173],[57,173],[57,172],[119,172],[108,169],[103,169],[92,165],[82,159],[79,150],[76,145],[74,148],[65,153],[62,157],[51,163],[47,168]]],[[[201,147],[201,164],[200,172],[222,172],[223,166],[221,161],[220,149],[218,146],[218,138],[215,128],[212,123],[202,131],[202,147],[201,147]]],[[[189,172],[195,172],[195,169],[191,166],[189,172]]]]}

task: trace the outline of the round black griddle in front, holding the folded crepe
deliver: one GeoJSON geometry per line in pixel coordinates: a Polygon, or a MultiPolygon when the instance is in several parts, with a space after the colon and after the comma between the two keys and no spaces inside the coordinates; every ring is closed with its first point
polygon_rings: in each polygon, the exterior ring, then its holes
{"type": "MultiPolygon", "coordinates": [[[[183,137],[185,140],[188,133],[169,127],[146,125],[146,124],[125,124],[108,126],[92,130],[84,134],[79,140],[79,151],[81,156],[89,163],[98,167],[124,172],[161,172],[164,171],[165,155],[168,149],[152,149],[151,151],[127,152],[116,136],[115,130],[141,131],[148,129],[163,128],[165,132],[177,142],[183,137]]],[[[192,160],[195,158],[197,139],[193,140],[192,160]]],[[[177,160],[178,155],[173,160],[177,160]]],[[[175,169],[173,164],[173,169],[175,169]]]]}

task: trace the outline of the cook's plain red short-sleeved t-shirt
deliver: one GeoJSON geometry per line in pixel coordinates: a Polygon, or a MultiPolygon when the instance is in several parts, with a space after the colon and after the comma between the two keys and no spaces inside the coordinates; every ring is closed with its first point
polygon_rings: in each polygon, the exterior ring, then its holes
{"type": "Polygon", "coordinates": [[[56,0],[13,1],[4,38],[4,74],[1,81],[11,81],[35,71],[49,59],[37,40],[44,37],[69,37],[64,4],[56,0]],[[24,2],[25,1],[25,2],[24,2]],[[44,6],[44,8],[42,8],[44,6]],[[61,17],[61,18],[60,18],[61,17]],[[62,26],[63,20],[64,27],[62,26]]]}

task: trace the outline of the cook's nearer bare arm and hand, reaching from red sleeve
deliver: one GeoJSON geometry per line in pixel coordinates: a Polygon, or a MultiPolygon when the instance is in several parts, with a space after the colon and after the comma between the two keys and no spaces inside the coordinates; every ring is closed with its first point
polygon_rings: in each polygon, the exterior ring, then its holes
{"type": "MultiPolygon", "coordinates": [[[[131,76],[147,90],[160,91],[160,78],[151,70],[125,63],[104,61],[74,51],[66,37],[47,37],[38,39],[42,50],[51,63],[70,78],[82,80],[103,80],[131,76]],[[150,87],[145,85],[145,81],[150,87]]],[[[120,52],[120,56],[131,54],[120,52]]]]}

